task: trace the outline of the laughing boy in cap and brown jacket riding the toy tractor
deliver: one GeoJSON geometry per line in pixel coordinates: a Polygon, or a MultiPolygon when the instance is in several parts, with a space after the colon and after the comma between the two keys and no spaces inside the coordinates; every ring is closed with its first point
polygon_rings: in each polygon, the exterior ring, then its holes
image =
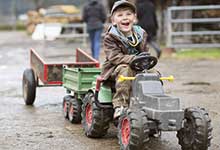
{"type": "Polygon", "coordinates": [[[114,118],[118,118],[123,109],[128,107],[131,81],[118,82],[119,75],[135,76],[129,63],[140,52],[147,52],[146,32],[136,21],[135,6],[125,0],[114,3],[111,10],[112,26],[104,38],[106,60],[103,64],[102,77],[104,80],[115,81],[116,92],[113,96],[114,118]]]}

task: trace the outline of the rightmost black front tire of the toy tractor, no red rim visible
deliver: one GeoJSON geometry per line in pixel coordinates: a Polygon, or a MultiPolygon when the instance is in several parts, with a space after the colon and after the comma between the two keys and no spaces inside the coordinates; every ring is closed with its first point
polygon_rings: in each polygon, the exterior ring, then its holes
{"type": "Polygon", "coordinates": [[[182,150],[207,150],[212,139],[211,120],[204,108],[187,108],[184,127],[177,132],[182,150]]]}

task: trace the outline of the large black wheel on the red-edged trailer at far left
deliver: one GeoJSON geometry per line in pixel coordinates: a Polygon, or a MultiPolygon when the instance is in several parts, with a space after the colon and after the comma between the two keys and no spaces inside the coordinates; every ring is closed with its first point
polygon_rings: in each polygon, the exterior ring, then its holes
{"type": "Polygon", "coordinates": [[[33,105],[36,97],[36,81],[32,69],[26,69],[23,73],[22,90],[25,104],[33,105]]]}

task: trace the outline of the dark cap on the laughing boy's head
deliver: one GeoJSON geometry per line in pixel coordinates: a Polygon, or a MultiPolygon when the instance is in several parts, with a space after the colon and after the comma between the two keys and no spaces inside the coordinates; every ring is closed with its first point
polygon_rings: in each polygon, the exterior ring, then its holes
{"type": "Polygon", "coordinates": [[[131,2],[128,2],[126,0],[119,0],[117,2],[114,3],[112,10],[111,10],[111,16],[113,15],[113,13],[119,9],[119,8],[130,8],[134,13],[136,13],[136,7],[134,4],[132,4],[131,2]]]}

